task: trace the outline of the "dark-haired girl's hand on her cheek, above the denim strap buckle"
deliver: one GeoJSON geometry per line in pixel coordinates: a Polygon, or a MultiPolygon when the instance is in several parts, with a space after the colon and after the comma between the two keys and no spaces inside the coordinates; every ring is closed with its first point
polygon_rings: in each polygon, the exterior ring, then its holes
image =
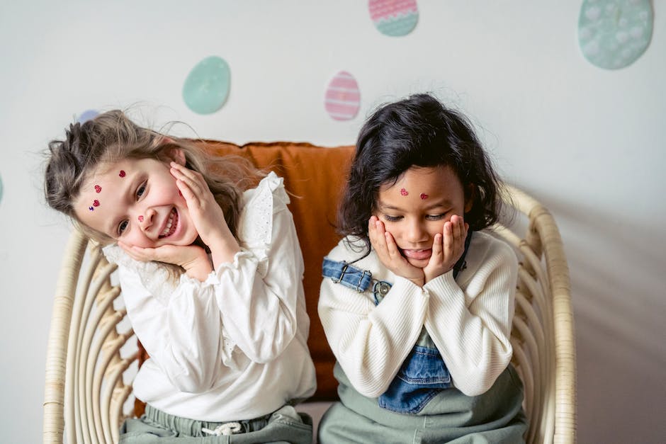
{"type": "Polygon", "coordinates": [[[424,273],[421,268],[412,266],[395,244],[395,239],[390,232],[384,229],[384,224],[376,216],[372,216],[368,222],[368,237],[370,244],[376,251],[383,265],[393,274],[411,280],[414,284],[422,287],[424,284],[424,273]]]}

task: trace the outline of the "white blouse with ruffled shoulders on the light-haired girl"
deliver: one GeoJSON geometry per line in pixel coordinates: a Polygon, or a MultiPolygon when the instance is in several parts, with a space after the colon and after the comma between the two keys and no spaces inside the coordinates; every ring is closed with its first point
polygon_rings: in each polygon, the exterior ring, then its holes
{"type": "Polygon", "coordinates": [[[176,416],[234,421],[315,392],[303,256],[287,203],[275,173],[247,190],[237,233],[242,249],[205,282],[185,274],[174,280],[159,263],[105,247],[150,356],[135,377],[137,398],[176,416]]]}

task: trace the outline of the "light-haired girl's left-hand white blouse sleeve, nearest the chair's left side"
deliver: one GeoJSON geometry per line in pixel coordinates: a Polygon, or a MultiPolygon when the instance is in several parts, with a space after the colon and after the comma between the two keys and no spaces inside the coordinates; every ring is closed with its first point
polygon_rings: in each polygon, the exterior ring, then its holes
{"type": "Polygon", "coordinates": [[[136,270],[118,270],[128,317],[150,359],[181,392],[210,389],[225,359],[213,289],[182,275],[170,294],[154,295],[136,270]]]}

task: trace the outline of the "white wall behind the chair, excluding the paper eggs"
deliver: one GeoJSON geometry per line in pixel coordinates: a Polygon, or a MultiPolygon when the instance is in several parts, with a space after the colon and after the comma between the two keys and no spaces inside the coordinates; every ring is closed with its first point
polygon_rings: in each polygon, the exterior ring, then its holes
{"type": "Polygon", "coordinates": [[[465,110],[508,181],[551,208],[571,267],[580,443],[666,436],[666,3],[643,57],[619,71],[577,47],[581,1],[420,0],[405,38],[367,1],[3,1],[0,5],[0,416],[35,443],[52,294],[68,227],[43,203],[40,152],[88,108],[141,103],[202,137],[351,144],[373,106],[434,91],[465,110]],[[227,60],[213,115],[181,99],[193,64],[227,60]],[[346,69],[359,117],[324,113],[346,69]]]}

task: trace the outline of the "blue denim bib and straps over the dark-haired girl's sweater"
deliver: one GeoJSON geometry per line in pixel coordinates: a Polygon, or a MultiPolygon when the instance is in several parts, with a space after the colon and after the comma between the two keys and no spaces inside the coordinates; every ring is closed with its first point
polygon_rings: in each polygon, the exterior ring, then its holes
{"type": "MultiPolygon", "coordinates": [[[[453,266],[453,278],[456,278],[458,273],[465,268],[465,256],[471,239],[472,232],[470,231],[465,239],[465,251],[453,266]]],[[[390,283],[373,280],[370,271],[360,270],[344,261],[324,258],[322,268],[324,278],[332,278],[335,283],[354,288],[358,292],[368,290],[373,283],[372,292],[376,305],[384,299],[391,288],[390,283]]],[[[446,368],[446,363],[430,335],[423,328],[419,340],[407,355],[397,375],[377,401],[383,409],[401,414],[417,414],[439,392],[450,387],[451,375],[446,368]]]]}

